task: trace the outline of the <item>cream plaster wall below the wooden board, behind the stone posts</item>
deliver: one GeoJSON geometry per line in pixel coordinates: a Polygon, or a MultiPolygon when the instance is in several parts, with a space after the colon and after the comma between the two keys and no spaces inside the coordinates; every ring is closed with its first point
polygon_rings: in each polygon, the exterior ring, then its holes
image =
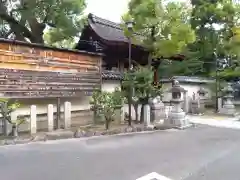
{"type": "MultiPolygon", "coordinates": [[[[64,102],[68,101],[72,104],[72,123],[75,125],[87,124],[92,121],[92,112],[89,111],[89,96],[75,97],[75,98],[61,98],[61,112],[64,111],[64,102]]],[[[29,122],[30,122],[30,106],[37,106],[37,129],[45,130],[47,129],[47,105],[53,104],[54,112],[57,111],[57,99],[56,98],[46,98],[46,99],[22,99],[19,100],[21,107],[14,112],[14,116],[24,115],[27,116],[26,122],[22,124],[19,128],[19,131],[29,131],[29,122]],[[43,116],[39,116],[43,115],[43,116]]],[[[63,113],[61,113],[63,118],[63,113]]],[[[60,121],[62,124],[63,121],[60,121]]],[[[9,126],[10,127],[10,126],[9,126]]],[[[1,132],[0,132],[1,133],[1,132]]]]}

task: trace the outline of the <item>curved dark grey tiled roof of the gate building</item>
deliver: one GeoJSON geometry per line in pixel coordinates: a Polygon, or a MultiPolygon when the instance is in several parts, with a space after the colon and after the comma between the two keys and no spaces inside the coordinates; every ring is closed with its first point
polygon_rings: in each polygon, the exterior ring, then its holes
{"type": "MultiPolygon", "coordinates": [[[[102,19],[93,14],[88,15],[88,23],[95,33],[102,39],[114,42],[128,42],[120,24],[102,19]]],[[[135,34],[140,36],[138,34],[135,34]]]]}

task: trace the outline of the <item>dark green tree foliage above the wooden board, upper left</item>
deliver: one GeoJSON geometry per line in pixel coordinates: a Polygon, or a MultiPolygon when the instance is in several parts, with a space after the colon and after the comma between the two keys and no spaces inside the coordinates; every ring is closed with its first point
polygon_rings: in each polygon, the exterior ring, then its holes
{"type": "Polygon", "coordinates": [[[47,30],[47,43],[54,44],[80,32],[84,9],[84,0],[0,1],[0,30],[5,31],[5,37],[32,43],[44,43],[43,35],[47,30]]]}

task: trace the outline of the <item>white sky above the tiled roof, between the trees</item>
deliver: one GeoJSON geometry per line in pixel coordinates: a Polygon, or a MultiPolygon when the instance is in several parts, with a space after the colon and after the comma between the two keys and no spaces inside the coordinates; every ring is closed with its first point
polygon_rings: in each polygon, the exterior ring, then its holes
{"type": "Polygon", "coordinates": [[[121,16],[127,12],[128,2],[129,0],[87,0],[86,13],[121,22],[121,16]]]}

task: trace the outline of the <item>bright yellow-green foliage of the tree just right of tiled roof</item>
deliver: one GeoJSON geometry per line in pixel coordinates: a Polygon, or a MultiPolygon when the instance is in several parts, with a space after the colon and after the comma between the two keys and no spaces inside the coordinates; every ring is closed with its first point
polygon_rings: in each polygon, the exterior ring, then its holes
{"type": "Polygon", "coordinates": [[[181,53],[194,41],[194,32],[188,23],[189,8],[186,4],[159,0],[131,0],[129,12],[123,16],[135,22],[135,37],[155,57],[170,57],[181,53]],[[166,5],[164,5],[166,4],[166,5]]]}

